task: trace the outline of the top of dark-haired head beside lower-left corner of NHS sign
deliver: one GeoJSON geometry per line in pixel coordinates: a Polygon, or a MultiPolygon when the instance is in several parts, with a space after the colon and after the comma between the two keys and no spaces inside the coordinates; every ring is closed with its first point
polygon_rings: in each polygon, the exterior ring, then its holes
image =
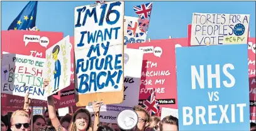
{"type": "Polygon", "coordinates": [[[178,118],[173,117],[172,115],[169,115],[165,117],[163,120],[161,120],[159,127],[160,127],[160,131],[165,131],[165,130],[178,131],[179,130],[178,118]]]}

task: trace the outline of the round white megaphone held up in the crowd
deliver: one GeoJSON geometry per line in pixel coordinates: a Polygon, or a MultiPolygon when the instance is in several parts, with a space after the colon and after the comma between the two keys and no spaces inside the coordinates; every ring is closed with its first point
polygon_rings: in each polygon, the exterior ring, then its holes
{"type": "Polygon", "coordinates": [[[138,115],[134,110],[122,110],[118,114],[118,127],[123,130],[131,130],[138,123],[138,115]]]}

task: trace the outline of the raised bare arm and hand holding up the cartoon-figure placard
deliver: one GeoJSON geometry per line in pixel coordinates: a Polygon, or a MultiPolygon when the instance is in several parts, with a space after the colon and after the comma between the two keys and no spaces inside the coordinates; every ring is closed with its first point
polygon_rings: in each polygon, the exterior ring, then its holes
{"type": "MultiPolygon", "coordinates": [[[[46,86],[49,85],[49,81],[48,80],[44,80],[43,81],[43,88],[45,89],[46,86]]],[[[53,96],[50,95],[47,98],[48,101],[48,113],[49,113],[49,118],[52,122],[52,126],[57,130],[57,131],[64,131],[65,128],[62,127],[62,125],[60,124],[60,121],[58,120],[58,117],[56,115],[56,110],[55,110],[55,106],[54,106],[54,102],[53,102],[53,96]]]]}

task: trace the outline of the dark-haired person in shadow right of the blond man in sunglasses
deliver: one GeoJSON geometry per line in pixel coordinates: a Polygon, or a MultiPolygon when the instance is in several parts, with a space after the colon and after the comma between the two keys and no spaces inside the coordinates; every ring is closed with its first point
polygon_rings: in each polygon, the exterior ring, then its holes
{"type": "Polygon", "coordinates": [[[45,118],[42,115],[33,115],[33,131],[40,131],[45,125],[45,118]]]}

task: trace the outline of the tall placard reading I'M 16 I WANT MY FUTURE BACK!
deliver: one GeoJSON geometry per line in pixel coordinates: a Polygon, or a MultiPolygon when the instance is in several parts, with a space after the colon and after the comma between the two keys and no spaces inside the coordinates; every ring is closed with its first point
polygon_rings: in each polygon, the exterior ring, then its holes
{"type": "Polygon", "coordinates": [[[124,2],[75,8],[77,106],[123,102],[124,2]]]}

